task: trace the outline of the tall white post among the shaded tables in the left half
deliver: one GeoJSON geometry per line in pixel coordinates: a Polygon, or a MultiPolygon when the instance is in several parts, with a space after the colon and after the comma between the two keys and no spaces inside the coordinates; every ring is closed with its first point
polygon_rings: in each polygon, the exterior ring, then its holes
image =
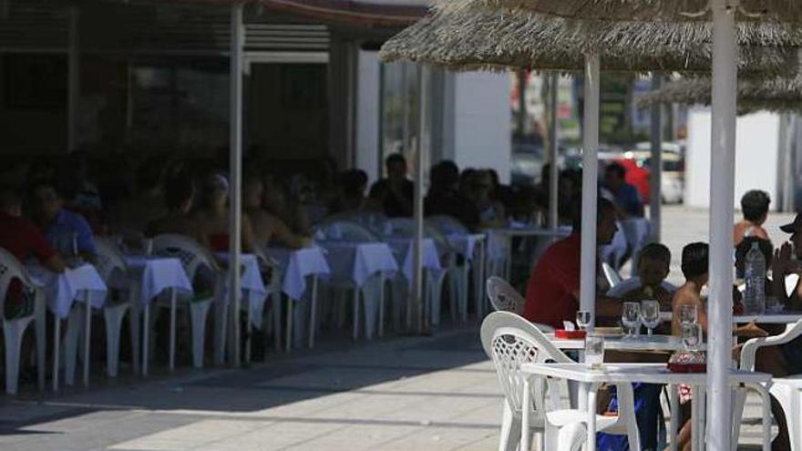
{"type": "MultiPolygon", "coordinates": [[[[242,251],[242,46],[245,35],[242,24],[242,4],[231,6],[231,111],[230,157],[231,210],[229,218],[229,302],[233,321],[233,349],[231,362],[240,366],[240,252],[242,251]]],[[[222,321],[226,321],[225,318],[222,321]]],[[[225,340],[226,337],[223,337],[225,340]]],[[[225,346],[223,346],[225,349],[225,346]]]]}

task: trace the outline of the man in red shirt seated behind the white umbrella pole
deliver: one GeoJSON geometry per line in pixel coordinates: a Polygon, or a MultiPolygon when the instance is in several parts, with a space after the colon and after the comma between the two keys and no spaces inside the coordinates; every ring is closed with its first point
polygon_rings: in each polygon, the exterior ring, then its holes
{"type": "MultiPolygon", "coordinates": [[[[612,241],[618,228],[612,202],[600,198],[597,209],[596,242],[602,246],[612,241]]],[[[563,321],[575,321],[580,308],[581,200],[573,202],[571,211],[573,231],[568,238],[552,244],[535,265],[527,284],[523,313],[533,323],[558,329],[563,321]]],[[[615,316],[618,310],[614,302],[596,302],[597,316],[615,316]]]]}

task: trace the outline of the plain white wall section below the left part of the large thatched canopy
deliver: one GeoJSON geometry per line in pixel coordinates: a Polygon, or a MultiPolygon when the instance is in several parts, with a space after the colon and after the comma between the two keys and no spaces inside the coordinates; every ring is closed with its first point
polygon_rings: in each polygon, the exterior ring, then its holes
{"type": "Polygon", "coordinates": [[[509,183],[509,76],[465,73],[454,80],[454,160],[460,169],[490,168],[509,183]]]}

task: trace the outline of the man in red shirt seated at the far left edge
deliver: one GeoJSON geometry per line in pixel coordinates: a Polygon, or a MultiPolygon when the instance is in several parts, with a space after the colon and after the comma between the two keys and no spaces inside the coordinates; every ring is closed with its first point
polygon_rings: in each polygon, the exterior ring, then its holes
{"type": "MultiPolygon", "coordinates": [[[[22,197],[11,186],[0,186],[0,248],[11,252],[17,260],[25,263],[34,257],[52,272],[64,272],[64,261],[47,243],[45,236],[33,224],[22,217],[22,197]]],[[[29,305],[23,295],[19,281],[12,281],[5,294],[5,317],[15,318],[25,314],[29,305]]]]}

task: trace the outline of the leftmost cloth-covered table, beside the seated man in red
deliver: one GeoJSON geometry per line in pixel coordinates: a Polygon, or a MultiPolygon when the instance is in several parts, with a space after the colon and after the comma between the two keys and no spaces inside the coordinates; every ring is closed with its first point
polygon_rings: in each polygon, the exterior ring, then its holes
{"type": "Polygon", "coordinates": [[[53,387],[58,389],[58,362],[61,351],[61,320],[67,320],[67,384],[73,384],[76,359],[70,355],[77,353],[77,333],[81,323],[86,328],[84,333],[84,385],[89,385],[89,353],[92,330],[92,308],[102,308],[106,303],[108,288],[98,274],[98,270],[90,264],[82,264],[77,268],[67,268],[65,272],[57,274],[44,267],[33,264],[27,266],[27,271],[35,282],[45,287],[47,308],[56,317],[54,333],[54,361],[53,361],[53,387]],[[84,302],[87,304],[85,317],[81,318],[73,304],[84,302]]]}

